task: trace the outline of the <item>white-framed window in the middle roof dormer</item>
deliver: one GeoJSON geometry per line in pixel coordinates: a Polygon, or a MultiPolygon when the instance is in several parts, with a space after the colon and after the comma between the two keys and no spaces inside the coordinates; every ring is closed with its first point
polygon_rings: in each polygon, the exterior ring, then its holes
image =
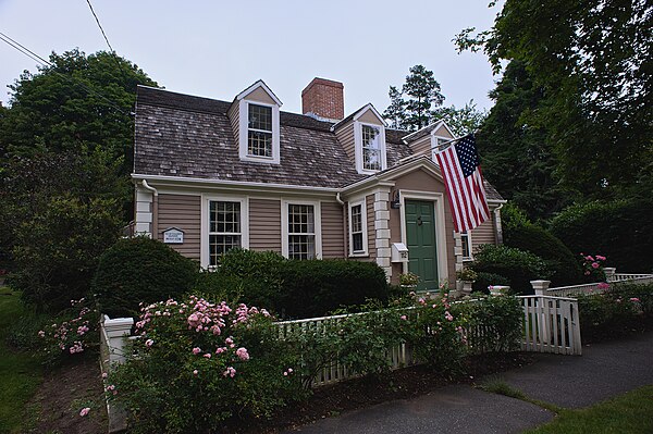
{"type": "Polygon", "coordinates": [[[359,121],[354,122],[354,128],[358,173],[371,174],[385,170],[385,128],[359,121]]]}

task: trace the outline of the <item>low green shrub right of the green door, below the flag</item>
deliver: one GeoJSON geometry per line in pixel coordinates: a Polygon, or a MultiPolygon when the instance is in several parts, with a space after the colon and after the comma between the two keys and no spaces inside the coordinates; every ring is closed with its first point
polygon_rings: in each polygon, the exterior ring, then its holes
{"type": "Polygon", "coordinates": [[[505,276],[517,294],[532,294],[530,281],[547,278],[552,272],[540,257],[508,246],[482,245],[471,268],[478,273],[505,276]]]}

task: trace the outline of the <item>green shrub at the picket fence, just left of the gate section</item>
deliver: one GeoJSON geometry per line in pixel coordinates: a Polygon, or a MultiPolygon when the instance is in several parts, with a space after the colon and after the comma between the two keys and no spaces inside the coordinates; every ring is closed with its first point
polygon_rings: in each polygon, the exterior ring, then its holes
{"type": "Polygon", "coordinates": [[[467,339],[473,352],[508,352],[519,349],[523,310],[516,297],[483,297],[455,305],[454,312],[463,317],[467,339]]]}

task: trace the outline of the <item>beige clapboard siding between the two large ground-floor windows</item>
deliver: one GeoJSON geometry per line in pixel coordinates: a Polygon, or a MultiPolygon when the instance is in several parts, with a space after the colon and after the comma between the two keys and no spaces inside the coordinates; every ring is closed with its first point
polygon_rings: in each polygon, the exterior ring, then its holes
{"type": "Polygon", "coordinates": [[[249,199],[249,248],[281,253],[281,201],[249,199]]]}

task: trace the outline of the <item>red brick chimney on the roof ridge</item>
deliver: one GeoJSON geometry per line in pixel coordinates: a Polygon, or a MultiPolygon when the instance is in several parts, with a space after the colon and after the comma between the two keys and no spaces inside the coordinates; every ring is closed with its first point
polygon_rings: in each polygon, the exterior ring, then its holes
{"type": "Polygon", "coordinates": [[[320,120],[343,120],[345,117],[343,84],[331,79],[313,78],[301,90],[301,112],[320,120]]]}

